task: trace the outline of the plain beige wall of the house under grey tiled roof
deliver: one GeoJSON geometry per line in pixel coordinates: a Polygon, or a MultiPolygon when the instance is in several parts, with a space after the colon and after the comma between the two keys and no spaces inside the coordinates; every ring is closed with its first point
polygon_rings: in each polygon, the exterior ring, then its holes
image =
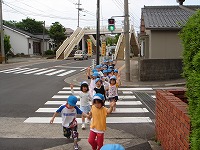
{"type": "Polygon", "coordinates": [[[178,31],[154,31],[149,36],[150,59],[182,58],[182,45],[178,31]]]}

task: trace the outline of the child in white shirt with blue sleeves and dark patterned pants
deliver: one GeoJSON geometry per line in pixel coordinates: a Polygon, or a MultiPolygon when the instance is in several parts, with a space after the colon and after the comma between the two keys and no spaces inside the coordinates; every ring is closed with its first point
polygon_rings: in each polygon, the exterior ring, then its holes
{"type": "Polygon", "coordinates": [[[65,105],[61,105],[58,110],[54,113],[50,123],[54,122],[55,117],[60,113],[62,117],[62,126],[63,126],[63,134],[66,138],[72,138],[74,140],[74,149],[78,150],[78,131],[77,131],[77,121],[76,115],[82,114],[84,117],[90,118],[89,115],[82,112],[77,106],[77,97],[70,95],[67,98],[67,103],[65,105]]]}

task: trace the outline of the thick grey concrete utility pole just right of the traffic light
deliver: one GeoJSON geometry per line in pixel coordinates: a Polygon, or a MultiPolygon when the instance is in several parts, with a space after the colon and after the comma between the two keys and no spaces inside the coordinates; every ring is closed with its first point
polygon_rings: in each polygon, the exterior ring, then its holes
{"type": "Polygon", "coordinates": [[[126,81],[130,81],[130,40],[129,40],[129,12],[128,0],[124,0],[124,35],[125,35],[125,74],[126,81]]]}

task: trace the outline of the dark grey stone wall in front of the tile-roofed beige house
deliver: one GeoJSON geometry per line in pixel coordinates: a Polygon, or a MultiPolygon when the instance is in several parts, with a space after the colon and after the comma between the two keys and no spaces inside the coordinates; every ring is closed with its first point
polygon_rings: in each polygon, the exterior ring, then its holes
{"type": "Polygon", "coordinates": [[[179,79],[182,66],[182,59],[141,59],[139,60],[139,80],[179,79]]]}

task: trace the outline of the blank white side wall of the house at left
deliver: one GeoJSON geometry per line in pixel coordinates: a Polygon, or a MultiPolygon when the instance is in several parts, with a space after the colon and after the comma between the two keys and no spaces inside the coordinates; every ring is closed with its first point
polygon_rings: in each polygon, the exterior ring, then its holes
{"type": "Polygon", "coordinates": [[[4,34],[10,36],[11,50],[14,54],[24,53],[28,55],[28,39],[25,35],[7,28],[4,28],[4,34]]]}

